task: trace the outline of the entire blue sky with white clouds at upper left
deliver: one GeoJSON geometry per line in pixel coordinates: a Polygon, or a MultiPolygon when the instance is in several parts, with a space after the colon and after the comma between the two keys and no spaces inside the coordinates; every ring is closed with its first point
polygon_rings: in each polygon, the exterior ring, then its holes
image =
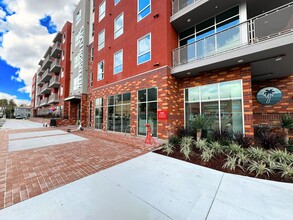
{"type": "Polygon", "coordinates": [[[30,104],[38,63],[79,0],[0,0],[0,99],[30,104]]]}

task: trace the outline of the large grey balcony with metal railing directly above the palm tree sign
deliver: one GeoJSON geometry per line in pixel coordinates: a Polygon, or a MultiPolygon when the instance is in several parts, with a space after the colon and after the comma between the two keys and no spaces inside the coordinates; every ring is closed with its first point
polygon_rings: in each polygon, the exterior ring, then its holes
{"type": "Polygon", "coordinates": [[[293,2],[173,50],[172,74],[198,75],[251,63],[252,74],[286,76],[293,69],[293,2]],[[280,60],[282,62],[272,62],[280,60]],[[257,66],[257,67],[256,67],[257,66]]]}

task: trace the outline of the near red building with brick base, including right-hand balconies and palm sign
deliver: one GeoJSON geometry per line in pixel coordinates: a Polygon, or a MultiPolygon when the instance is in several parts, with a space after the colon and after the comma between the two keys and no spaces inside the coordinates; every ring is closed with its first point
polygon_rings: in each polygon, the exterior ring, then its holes
{"type": "MultiPolygon", "coordinates": [[[[293,112],[290,1],[98,0],[90,124],[166,138],[194,114],[253,135],[293,112]]],[[[92,49],[93,48],[93,49],[92,49]]]]}

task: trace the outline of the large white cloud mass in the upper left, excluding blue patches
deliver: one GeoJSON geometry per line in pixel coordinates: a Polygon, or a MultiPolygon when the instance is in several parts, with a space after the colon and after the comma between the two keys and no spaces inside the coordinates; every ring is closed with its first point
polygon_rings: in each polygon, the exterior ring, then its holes
{"type": "MultiPolygon", "coordinates": [[[[9,65],[19,68],[19,78],[25,83],[21,90],[31,91],[32,78],[38,69],[38,62],[52,45],[55,34],[49,34],[39,20],[50,15],[57,30],[65,22],[72,21],[72,13],[79,0],[4,0],[9,12],[6,21],[0,20],[0,31],[4,33],[0,57],[9,65]]],[[[3,10],[2,10],[3,11],[3,10]]],[[[1,17],[1,10],[0,10],[1,17]]]]}

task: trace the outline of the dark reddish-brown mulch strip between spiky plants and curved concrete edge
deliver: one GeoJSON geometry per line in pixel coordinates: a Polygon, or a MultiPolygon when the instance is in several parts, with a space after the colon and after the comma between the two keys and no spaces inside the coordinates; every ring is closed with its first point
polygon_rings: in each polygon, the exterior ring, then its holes
{"type": "Polygon", "coordinates": [[[254,178],[259,178],[259,179],[278,181],[278,182],[292,183],[292,180],[287,180],[287,179],[281,178],[281,175],[278,173],[270,174],[269,177],[267,175],[259,175],[259,176],[255,177],[254,173],[249,173],[248,171],[245,172],[242,169],[240,169],[239,167],[236,167],[235,171],[223,169],[222,167],[223,167],[223,165],[225,163],[225,159],[226,159],[226,156],[224,154],[215,156],[209,162],[204,162],[201,160],[201,157],[200,157],[201,152],[198,149],[193,149],[193,151],[191,152],[191,154],[189,156],[190,160],[185,159],[184,155],[182,153],[180,153],[179,147],[176,147],[176,149],[174,150],[174,153],[169,154],[169,155],[164,153],[162,151],[162,149],[156,150],[156,151],[154,151],[154,153],[165,155],[168,157],[172,157],[172,158],[175,158],[178,160],[183,160],[183,161],[197,164],[200,166],[208,167],[208,168],[211,168],[214,170],[219,170],[219,171],[222,171],[225,173],[238,174],[238,175],[242,175],[242,176],[249,176],[249,177],[254,177],[254,178]]]}

